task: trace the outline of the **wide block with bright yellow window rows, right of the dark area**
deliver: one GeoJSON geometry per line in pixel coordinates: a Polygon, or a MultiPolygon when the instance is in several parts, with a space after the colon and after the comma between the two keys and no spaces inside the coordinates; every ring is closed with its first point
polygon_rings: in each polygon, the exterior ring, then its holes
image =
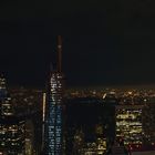
{"type": "Polygon", "coordinates": [[[142,105],[116,106],[116,137],[127,146],[141,147],[143,144],[142,105]]]}

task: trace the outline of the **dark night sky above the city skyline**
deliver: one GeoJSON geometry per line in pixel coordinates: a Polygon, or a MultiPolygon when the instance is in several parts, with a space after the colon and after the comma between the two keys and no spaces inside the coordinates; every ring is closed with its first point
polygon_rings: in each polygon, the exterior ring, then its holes
{"type": "Polygon", "coordinates": [[[155,83],[153,0],[2,0],[0,70],[43,86],[63,38],[68,85],[155,83]]]}

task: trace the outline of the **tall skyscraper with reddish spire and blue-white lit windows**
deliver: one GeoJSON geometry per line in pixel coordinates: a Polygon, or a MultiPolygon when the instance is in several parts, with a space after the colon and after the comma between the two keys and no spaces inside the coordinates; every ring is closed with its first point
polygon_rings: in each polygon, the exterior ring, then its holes
{"type": "Polygon", "coordinates": [[[62,155],[62,96],[61,37],[58,39],[58,68],[50,74],[45,107],[45,155],[62,155]]]}

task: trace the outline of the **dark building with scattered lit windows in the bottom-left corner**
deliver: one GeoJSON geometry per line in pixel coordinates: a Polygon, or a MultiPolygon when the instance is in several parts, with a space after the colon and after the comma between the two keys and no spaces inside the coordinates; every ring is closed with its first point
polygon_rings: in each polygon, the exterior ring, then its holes
{"type": "Polygon", "coordinates": [[[24,154],[24,121],[17,117],[0,120],[0,153],[4,155],[24,154]]]}

